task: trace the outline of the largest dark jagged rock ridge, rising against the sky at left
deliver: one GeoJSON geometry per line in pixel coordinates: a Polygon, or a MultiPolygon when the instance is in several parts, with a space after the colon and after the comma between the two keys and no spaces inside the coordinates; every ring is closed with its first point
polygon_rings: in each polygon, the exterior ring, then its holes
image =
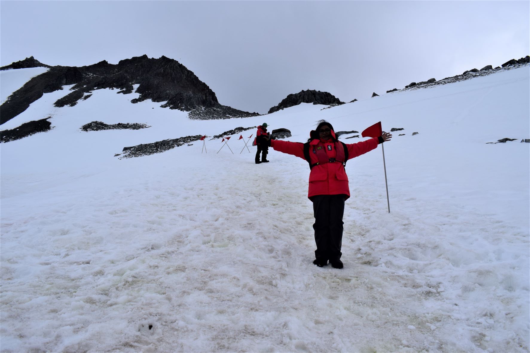
{"type": "Polygon", "coordinates": [[[133,85],[139,85],[135,92],[140,96],[131,99],[131,103],[151,99],[165,102],[162,107],[187,112],[211,108],[205,116],[199,116],[197,112],[191,114],[192,119],[259,115],[220,105],[213,90],[178,61],[165,56],[154,59],[144,55],[120,60],[116,65],[103,60],[90,66],[51,67],[46,73],[33,77],[0,106],[0,124],[22,113],[43,93],[54,92],[65,85],[74,85],[73,92],[59,99],[56,102],[58,107],[75,105],[94,89],[117,88],[118,93],[129,94],[133,92],[133,85]]]}

